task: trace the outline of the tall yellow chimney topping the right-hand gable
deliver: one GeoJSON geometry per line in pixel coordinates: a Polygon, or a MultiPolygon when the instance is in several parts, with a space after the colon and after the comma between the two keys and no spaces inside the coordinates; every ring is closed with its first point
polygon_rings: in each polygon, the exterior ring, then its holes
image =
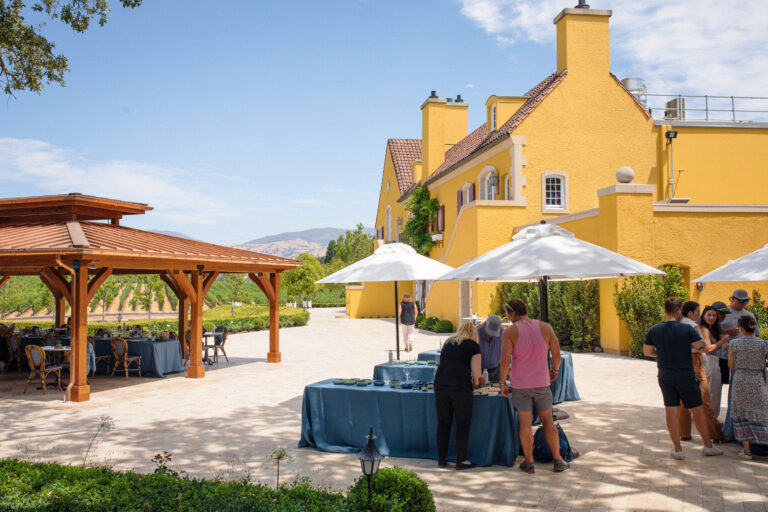
{"type": "Polygon", "coordinates": [[[610,73],[608,19],[611,11],[578,7],[563,9],[555,16],[557,27],[557,72],[568,75],[604,76],[610,73]]]}

